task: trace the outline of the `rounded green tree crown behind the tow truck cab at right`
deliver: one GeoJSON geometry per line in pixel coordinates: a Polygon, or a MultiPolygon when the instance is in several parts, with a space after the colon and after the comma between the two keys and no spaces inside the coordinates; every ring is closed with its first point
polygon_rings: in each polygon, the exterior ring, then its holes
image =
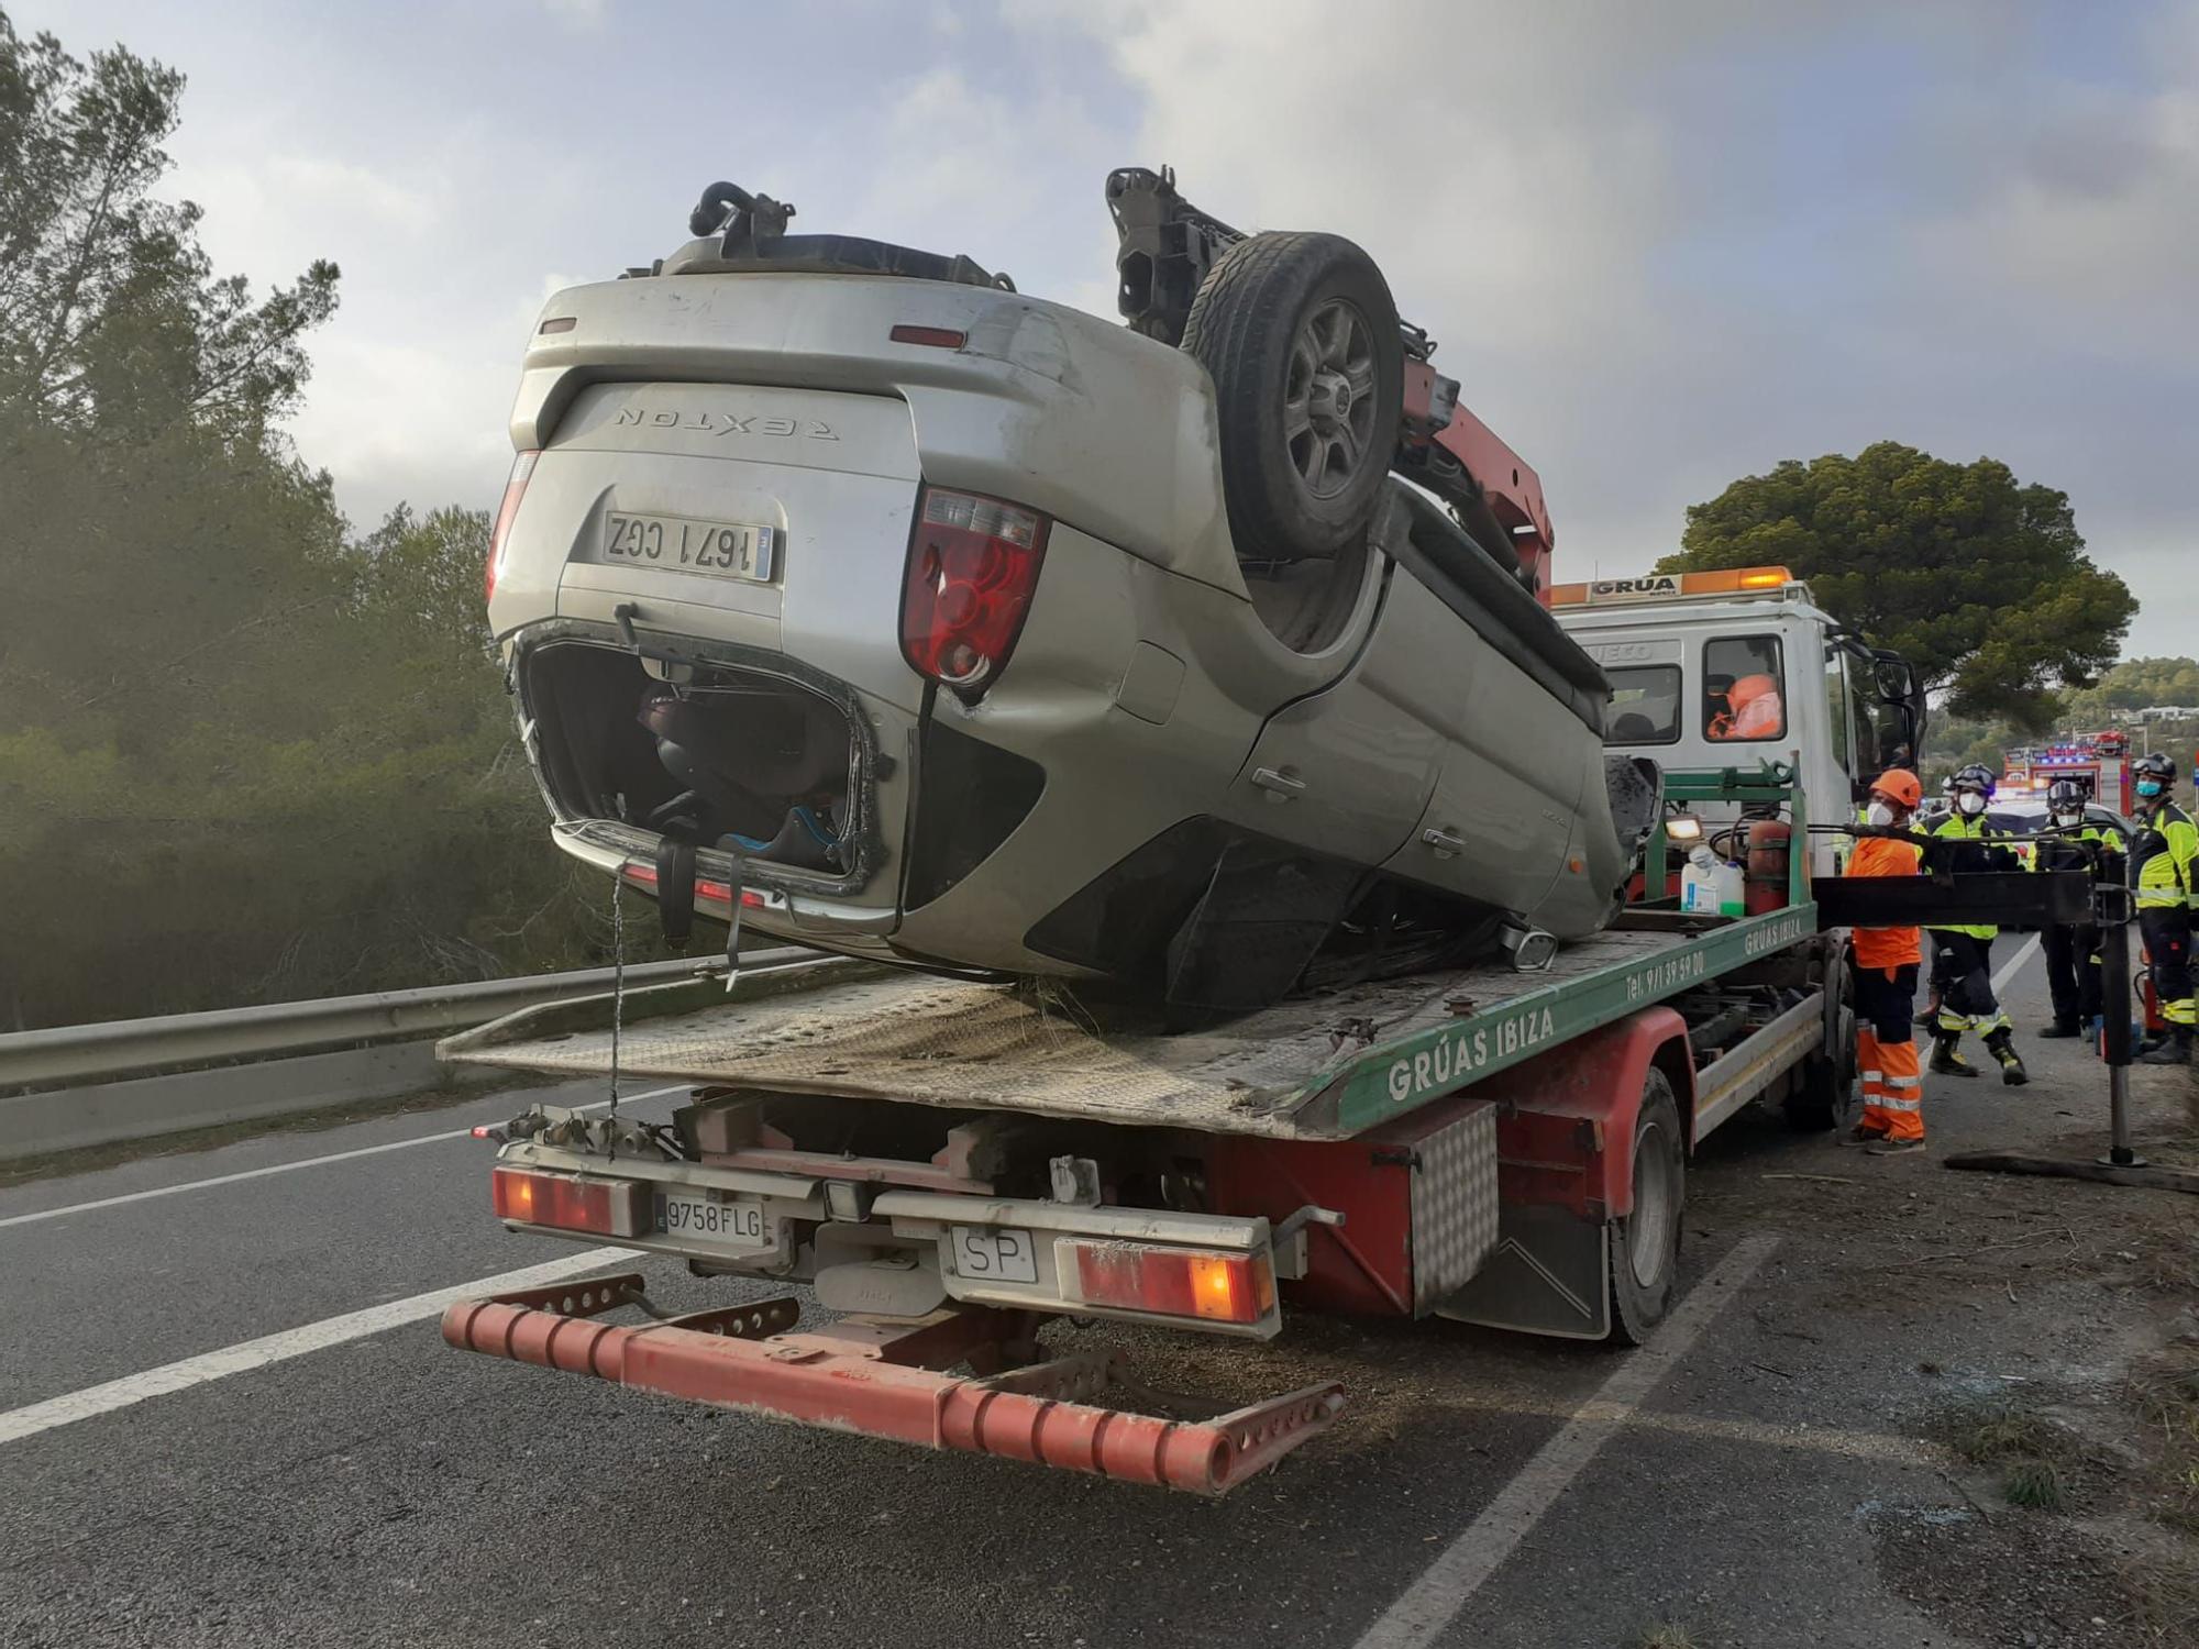
{"type": "Polygon", "coordinates": [[[1687,512],[1660,572],[1779,563],[1959,717],[2043,728],[2054,688],[2113,664],[2137,600],[2085,554],[2069,499],[1999,460],[1878,442],[1788,460],[1687,512]]]}

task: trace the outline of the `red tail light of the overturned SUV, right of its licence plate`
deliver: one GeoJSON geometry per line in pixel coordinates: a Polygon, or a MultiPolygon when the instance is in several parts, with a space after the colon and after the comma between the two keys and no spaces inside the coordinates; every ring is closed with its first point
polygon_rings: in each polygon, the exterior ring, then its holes
{"type": "Polygon", "coordinates": [[[1038,587],[1049,525],[1016,503],[924,488],[902,585],[902,653],[919,675],[974,699],[1001,673],[1038,587]]]}

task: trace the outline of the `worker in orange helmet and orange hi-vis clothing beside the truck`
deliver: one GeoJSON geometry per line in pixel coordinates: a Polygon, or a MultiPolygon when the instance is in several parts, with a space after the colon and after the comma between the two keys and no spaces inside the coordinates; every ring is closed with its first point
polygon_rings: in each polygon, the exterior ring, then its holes
{"type": "MultiPolygon", "coordinates": [[[[1871,785],[1867,824],[1900,829],[1915,816],[1924,787],[1907,767],[1889,767],[1871,785]]],[[[1865,835],[1847,875],[1915,875],[1924,849],[1891,835],[1865,835]]],[[[1852,1143],[1874,1156],[1924,1150],[1924,1073],[1918,1060],[1918,967],[1924,934],[1915,928],[1856,928],[1856,1066],[1863,1071],[1863,1121],[1852,1143]]]]}

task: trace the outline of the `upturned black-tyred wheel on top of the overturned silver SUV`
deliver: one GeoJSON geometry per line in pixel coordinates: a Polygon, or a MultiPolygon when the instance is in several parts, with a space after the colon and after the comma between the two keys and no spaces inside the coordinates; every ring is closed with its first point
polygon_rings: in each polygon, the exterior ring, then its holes
{"type": "Polygon", "coordinates": [[[1341,235],[1251,235],[1192,299],[1240,561],[1328,558],[1366,532],[1396,453],[1405,345],[1374,259],[1341,235]]]}

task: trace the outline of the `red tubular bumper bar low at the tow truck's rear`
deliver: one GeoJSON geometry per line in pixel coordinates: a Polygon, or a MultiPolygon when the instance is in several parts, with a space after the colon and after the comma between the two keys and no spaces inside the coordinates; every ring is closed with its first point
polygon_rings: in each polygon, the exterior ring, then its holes
{"type": "Polygon", "coordinates": [[[1212,1420],[1168,1420],[1093,1401],[1110,1387],[1137,1390],[1108,1354],[992,1376],[943,1372],[990,1363],[1005,1341],[1027,1337],[1023,1313],[952,1308],[913,1324],[847,1317],[796,1335],[798,1310],[794,1299],[765,1299],[664,1317],[649,1306],[642,1277],[627,1273],[462,1299],[444,1310],[442,1337],[460,1350],[717,1409],[1194,1495],[1229,1493],[1344,1409],[1344,1387],[1330,1383],[1212,1420]],[[653,1321],[596,1321],[622,1306],[653,1321]]]}

